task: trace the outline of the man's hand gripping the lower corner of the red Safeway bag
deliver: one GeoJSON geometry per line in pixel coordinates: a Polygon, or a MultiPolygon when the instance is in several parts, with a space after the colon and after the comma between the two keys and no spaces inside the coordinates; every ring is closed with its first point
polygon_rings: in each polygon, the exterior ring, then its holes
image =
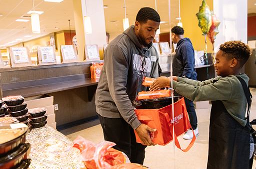
{"type": "Polygon", "coordinates": [[[137,132],[138,137],[141,140],[143,145],[146,145],[146,146],[155,146],[156,145],[151,141],[149,133],[148,133],[148,132],[155,132],[156,129],[152,129],[145,124],[141,124],[137,129],[135,129],[135,131],[137,132]]]}

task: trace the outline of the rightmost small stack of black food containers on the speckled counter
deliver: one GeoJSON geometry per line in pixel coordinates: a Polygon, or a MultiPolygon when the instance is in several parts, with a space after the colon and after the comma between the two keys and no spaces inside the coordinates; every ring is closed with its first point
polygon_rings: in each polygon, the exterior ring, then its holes
{"type": "Polygon", "coordinates": [[[29,124],[33,128],[43,127],[47,123],[46,109],[40,107],[28,109],[28,113],[30,119],[29,124]]]}

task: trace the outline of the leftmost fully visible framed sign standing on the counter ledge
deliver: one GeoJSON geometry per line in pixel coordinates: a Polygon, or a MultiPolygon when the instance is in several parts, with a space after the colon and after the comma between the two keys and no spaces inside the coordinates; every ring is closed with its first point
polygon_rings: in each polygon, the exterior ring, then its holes
{"type": "Polygon", "coordinates": [[[28,47],[10,47],[10,67],[32,66],[28,47]]]}

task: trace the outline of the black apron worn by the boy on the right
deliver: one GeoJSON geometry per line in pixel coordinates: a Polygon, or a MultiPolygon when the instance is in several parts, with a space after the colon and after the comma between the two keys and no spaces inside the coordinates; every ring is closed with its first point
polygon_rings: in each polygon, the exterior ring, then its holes
{"type": "Polygon", "coordinates": [[[249,124],[242,127],[221,101],[212,101],[207,169],[249,169],[249,124]]]}

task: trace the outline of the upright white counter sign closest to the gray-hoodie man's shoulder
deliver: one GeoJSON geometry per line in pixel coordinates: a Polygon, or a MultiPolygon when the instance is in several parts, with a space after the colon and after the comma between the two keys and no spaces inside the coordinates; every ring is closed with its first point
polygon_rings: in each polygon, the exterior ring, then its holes
{"type": "Polygon", "coordinates": [[[99,60],[98,45],[85,45],[85,59],[86,61],[99,60]]]}

